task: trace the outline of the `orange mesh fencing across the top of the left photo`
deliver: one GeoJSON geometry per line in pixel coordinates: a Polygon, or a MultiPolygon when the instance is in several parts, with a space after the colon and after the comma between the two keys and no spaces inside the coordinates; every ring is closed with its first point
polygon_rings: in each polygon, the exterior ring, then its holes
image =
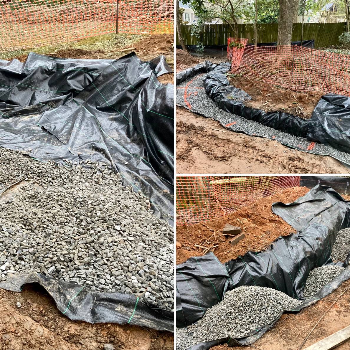
{"type": "Polygon", "coordinates": [[[108,33],[173,33],[171,0],[1,0],[0,51],[108,33]]]}

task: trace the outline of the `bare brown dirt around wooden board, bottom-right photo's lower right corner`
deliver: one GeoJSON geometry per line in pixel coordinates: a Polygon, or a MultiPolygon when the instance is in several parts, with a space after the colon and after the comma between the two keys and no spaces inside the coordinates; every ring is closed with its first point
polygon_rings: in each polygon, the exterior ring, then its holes
{"type": "MultiPolygon", "coordinates": [[[[297,350],[307,337],[311,329],[322,317],[336,299],[350,287],[350,280],[342,283],[333,293],[317,301],[314,305],[297,314],[283,314],[274,327],[269,329],[252,346],[218,345],[212,350],[297,350]]],[[[350,324],[350,289],[325,314],[315,330],[308,337],[302,349],[320,341],[321,339],[347,327],[350,324]]],[[[339,345],[337,350],[349,350],[350,340],[339,345]]]]}

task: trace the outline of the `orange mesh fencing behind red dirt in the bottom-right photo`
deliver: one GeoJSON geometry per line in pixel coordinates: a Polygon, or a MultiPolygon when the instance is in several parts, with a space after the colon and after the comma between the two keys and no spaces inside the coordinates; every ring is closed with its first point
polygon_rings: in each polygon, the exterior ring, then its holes
{"type": "Polygon", "coordinates": [[[177,176],[176,224],[191,225],[300,185],[300,176],[177,176]]]}

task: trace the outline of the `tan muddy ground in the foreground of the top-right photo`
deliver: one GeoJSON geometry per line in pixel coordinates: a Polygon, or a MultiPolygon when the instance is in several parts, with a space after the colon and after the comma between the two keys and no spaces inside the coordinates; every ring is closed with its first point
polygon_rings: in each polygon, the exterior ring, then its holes
{"type": "Polygon", "coordinates": [[[348,174],[341,162],[225,129],[182,107],[176,109],[178,174],[348,174]]]}

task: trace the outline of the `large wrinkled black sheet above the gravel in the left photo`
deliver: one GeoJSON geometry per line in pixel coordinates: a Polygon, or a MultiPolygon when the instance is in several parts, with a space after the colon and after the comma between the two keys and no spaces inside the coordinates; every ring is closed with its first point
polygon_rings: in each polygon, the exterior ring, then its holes
{"type": "Polygon", "coordinates": [[[31,52],[0,61],[0,146],[41,161],[111,164],[126,186],[173,217],[174,86],[164,56],[142,62],[31,52]]]}

